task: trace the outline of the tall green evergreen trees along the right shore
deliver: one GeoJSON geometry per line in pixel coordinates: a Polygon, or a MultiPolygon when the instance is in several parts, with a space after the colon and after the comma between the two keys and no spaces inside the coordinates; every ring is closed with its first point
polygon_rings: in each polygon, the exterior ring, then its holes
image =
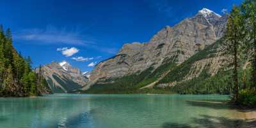
{"type": "Polygon", "coordinates": [[[222,40],[232,70],[232,103],[256,106],[256,0],[232,8],[222,40]],[[250,75],[249,84],[239,82],[244,69],[250,69],[244,73],[250,75]]]}

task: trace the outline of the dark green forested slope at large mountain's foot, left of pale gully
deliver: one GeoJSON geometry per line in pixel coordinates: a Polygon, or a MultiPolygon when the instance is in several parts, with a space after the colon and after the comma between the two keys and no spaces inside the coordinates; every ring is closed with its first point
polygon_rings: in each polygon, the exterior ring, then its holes
{"type": "Polygon", "coordinates": [[[155,82],[165,71],[175,66],[177,57],[164,60],[163,64],[157,69],[151,66],[145,71],[138,71],[132,75],[123,76],[122,78],[108,79],[104,83],[96,83],[84,93],[93,94],[131,94],[131,93],[172,93],[164,89],[142,89],[145,85],[155,82]]]}

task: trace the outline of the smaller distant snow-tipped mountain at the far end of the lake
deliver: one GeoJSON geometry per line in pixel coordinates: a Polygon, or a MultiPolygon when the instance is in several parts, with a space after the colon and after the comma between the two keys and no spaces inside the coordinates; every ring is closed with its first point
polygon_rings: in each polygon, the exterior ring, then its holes
{"type": "Polygon", "coordinates": [[[52,92],[71,92],[81,89],[88,78],[78,68],[73,68],[67,61],[51,62],[42,66],[42,74],[52,92]]]}

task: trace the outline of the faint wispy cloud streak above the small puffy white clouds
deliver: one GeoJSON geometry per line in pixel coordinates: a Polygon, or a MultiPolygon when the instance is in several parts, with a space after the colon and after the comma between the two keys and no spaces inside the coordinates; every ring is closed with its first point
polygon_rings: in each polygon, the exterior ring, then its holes
{"type": "Polygon", "coordinates": [[[18,41],[31,41],[41,44],[71,44],[71,45],[92,45],[95,39],[83,34],[83,31],[67,27],[57,28],[47,25],[45,29],[25,29],[14,33],[13,38],[18,41]]]}

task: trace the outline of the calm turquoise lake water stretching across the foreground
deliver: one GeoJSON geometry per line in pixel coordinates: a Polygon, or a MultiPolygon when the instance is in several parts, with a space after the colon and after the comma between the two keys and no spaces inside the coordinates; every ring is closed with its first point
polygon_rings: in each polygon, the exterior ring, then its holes
{"type": "Polygon", "coordinates": [[[238,111],[225,104],[197,102],[215,99],[228,96],[53,94],[0,98],[0,127],[236,127],[233,118],[240,116],[238,111]]]}

